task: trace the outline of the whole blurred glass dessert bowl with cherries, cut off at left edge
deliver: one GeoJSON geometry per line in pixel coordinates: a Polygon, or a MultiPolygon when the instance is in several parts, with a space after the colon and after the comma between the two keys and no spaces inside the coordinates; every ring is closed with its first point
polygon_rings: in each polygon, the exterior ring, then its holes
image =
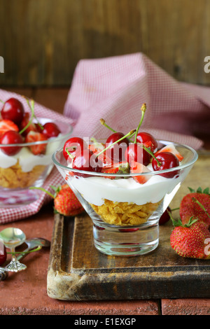
{"type": "Polygon", "coordinates": [[[1,101],[0,114],[0,207],[18,207],[38,199],[50,174],[52,154],[69,138],[71,125],[37,118],[34,100],[12,97],[1,101]]]}

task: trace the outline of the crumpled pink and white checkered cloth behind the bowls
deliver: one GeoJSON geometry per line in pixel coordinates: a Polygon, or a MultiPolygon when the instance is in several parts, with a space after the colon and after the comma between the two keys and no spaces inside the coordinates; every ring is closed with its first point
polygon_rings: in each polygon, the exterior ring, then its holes
{"type": "MultiPolygon", "coordinates": [[[[9,94],[0,92],[0,99],[9,94]]],[[[203,142],[195,133],[209,133],[209,87],[180,83],[142,53],[102,59],[83,59],[78,62],[71,90],[64,106],[64,117],[75,126],[73,136],[107,137],[106,123],[119,132],[137,127],[141,105],[147,111],[141,130],[158,139],[167,139],[201,148],[203,142]]],[[[36,104],[37,115],[57,118],[61,115],[36,104]]],[[[65,118],[65,120],[66,120],[65,118]]],[[[45,181],[44,188],[62,182],[57,169],[45,181]]],[[[36,214],[49,197],[25,207],[0,209],[0,223],[8,223],[36,214]]]]}

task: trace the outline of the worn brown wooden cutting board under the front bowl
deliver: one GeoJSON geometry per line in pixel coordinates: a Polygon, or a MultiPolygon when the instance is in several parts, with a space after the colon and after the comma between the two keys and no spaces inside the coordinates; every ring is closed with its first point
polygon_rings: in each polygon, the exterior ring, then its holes
{"type": "MultiPolygon", "coordinates": [[[[191,188],[210,187],[210,156],[200,156],[174,197],[172,208],[191,188]]],[[[173,216],[179,216],[174,211],[173,216]]],[[[160,226],[158,248],[141,256],[104,255],[94,248],[92,221],[55,216],[48,296],[58,300],[133,300],[210,297],[210,260],[182,258],[169,243],[172,223],[160,226]]]]}

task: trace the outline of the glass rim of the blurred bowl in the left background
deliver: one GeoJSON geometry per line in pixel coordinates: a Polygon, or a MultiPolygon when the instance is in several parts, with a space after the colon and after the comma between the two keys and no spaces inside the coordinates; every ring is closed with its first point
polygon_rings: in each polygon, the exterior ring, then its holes
{"type": "MultiPolygon", "coordinates": [[[[73,132],[73,127],[70,123],[65,123],[62,120],[53,120],[49,118],[38,118],[38,120],[48,120],[50,123],[60,123],[62,125],[66,125],[66,127],[69,127],[69,132],[61,133],[57,137],[50,137],[50,139],[46,139],[45,141],[31,141],[30,143],[18,143],[18,144],[0,144],[0,148],[7,148],[7,147],[24,147],[24,146],[34,146],[34,145],[41,145],[41,144],[49,144],[55,141],[60,141],[62,139],[65,139],[69,137],[69,134],[73,132]]],[[[37,121],[36,121],[37,123],[37,121]]]]}

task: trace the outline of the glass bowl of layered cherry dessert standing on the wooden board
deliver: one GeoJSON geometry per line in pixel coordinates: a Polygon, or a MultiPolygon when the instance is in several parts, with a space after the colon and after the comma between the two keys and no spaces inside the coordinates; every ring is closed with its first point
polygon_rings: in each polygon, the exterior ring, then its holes
{"type": "Polygon", "coordinates": [[[99,141],[70,137],[52,159],[93,223],[94,246],[108,255],[144,255],[159,244],[159,220],[197,160],[186,145],[137,129],[99,141]]]}

